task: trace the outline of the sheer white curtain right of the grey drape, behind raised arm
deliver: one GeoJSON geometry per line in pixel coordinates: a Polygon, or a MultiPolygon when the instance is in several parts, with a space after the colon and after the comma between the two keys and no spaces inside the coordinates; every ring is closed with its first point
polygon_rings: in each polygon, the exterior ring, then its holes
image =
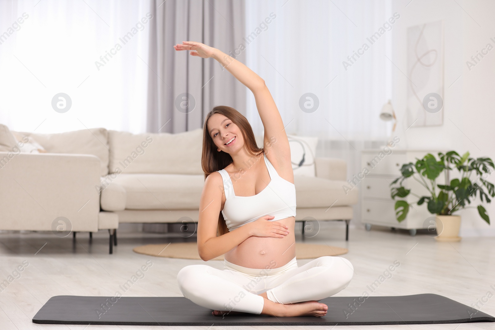
{"type": "MultiPolygon", "coordinates": [[[[392,130],[379,114],[392,98],[394,25],[367,40],[393,17],[391,0],[250,0],[246,15],[246,34],[254,32],[245,42],[247,66],[265,80],[287,133],[318,137],[316,156],[345,159],[348,178],[360,172],[359,151],[385,145],[392,130]],[[365,43],[369,49],[354,55],[365,43]],[[299,107],[305,93],[317,97],[316,111],[299,107]]],[[[249,90],[247,119],[263,133],[249,90]]]]}

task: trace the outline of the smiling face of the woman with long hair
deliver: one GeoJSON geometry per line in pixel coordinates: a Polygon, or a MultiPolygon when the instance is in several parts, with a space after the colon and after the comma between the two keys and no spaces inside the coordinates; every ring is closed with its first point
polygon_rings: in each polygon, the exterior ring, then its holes
{"type": "Polygon", "coordinates": [[[207,127],[218,151],[230,154],[242,147],[244,140],[239,126],[223,114],[213,114],[208,119],[207,127]]]}

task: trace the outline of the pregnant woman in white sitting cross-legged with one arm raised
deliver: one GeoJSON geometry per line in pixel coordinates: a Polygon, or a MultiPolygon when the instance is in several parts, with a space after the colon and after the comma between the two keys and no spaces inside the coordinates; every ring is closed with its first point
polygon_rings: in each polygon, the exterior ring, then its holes
{"type": "Polygon", "coordinates": [[[237,110],[217,106],[206,115],[198,253],[204,261],[225,254],[224,269],[182,268],[177,275],[181,292],[216,316],[325,316],[328,306],[318,300],[346,288],[354,269],[347,259],[332,256],[297,265],[291,150],[265,81],[218,49],[190,41],[174,48],[220,62],[251,90],[264,126],[264,148],[258,148],[249,122],[237,110]]]}

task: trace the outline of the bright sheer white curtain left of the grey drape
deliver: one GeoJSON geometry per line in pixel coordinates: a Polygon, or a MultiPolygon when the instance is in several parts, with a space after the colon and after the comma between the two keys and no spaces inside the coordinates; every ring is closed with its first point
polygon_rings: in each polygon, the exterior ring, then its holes
{"type": "Polygon", "coordinates": [[[0,123],[146,131],[148,12],[149,1],[0,1],[0,123]],[[67,112],[51,106],[58,93],[67,112]]]}

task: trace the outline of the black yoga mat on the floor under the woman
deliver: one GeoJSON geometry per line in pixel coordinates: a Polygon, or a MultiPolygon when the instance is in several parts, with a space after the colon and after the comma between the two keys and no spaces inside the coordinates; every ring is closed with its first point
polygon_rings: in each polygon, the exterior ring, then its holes
{"type": "Polygon", "coordinates": [[[328,297],[324,317],[257,314],[213,316],[184,297],[54,296],[36,313],[38,324],[130,326],[350,326],[495,322],[491,315],[444,296],[328,297]],[[106,309],[103,309],[106,305],[106,309]],[[349,305],[350,304],[350,305],[349,305]],[[352,306],[352,308],[351,308],[352,306]]]}

